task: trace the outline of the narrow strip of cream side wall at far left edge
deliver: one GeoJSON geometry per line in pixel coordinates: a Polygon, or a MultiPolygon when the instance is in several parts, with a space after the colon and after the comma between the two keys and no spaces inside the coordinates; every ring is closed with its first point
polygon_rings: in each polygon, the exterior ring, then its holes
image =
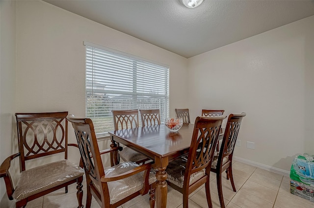
{"type": "MultiPolygon", "coordinates": [[[[0,163],[16,153],[13,142],[15,113],[15,1],[0,1],[0,163]]],[[[0,207],[8,207],[4,180],[0,179],[0,207]],[[4,200],[1,200],[1,199],[4,200]]]]}

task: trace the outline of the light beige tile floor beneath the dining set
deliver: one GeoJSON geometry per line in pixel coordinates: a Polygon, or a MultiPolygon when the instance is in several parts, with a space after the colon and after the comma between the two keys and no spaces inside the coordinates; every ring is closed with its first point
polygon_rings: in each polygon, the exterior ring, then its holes
{"type": "MultiPolygon", "coordinates": [[[[226,208],[314,208],[314,203],[295,196],[289,191],[289,177],[256,168],[241,162],[233,163],[236,192],[230,181],[223,178],[226,208]]],[[[210,173],[210,190],[213,208],[220,208],[216,176],[210,173]]],[[[86,188],[83,189],[86,191],[86,188]]],[[[85,193],[85,192],[84,192],[85,193]]],[[[86,196],[84,194],[83,202],[86,196]]],[[[57,190],[29,202],[26,208],[77,208],[76,185],[57,190]]],[[[92,208],[100,208],[93,198],[92,208]]],[[[149,208],[149,196],[139,196],[119,208],[149,208]]],[[[182,194],[168,186],[167,208],[183,208],[182,194]]],[[[204,185],[189,196],[189,208],[208,208],[204,185]]]]}

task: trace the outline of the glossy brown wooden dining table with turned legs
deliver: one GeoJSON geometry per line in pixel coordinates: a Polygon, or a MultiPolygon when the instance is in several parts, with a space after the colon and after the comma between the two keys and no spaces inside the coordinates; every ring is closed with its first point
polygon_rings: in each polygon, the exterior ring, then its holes
{"type": "MultiPolygon", "coordinates": [[[[167,205],[167,173],[169,162],[187,154],[191,144],[194,124],[186,124],[178,132],[170,132],[164,124],[122,129],[108,132],[111,147],[122,143],[133,150],[147,156],[155,162],[156,172],[156,207],[167,205]]],[[[223,132],[220,134],[220,138],[223,132]]],[[[117,153],[112,155],[113,163],[118,163],[117,153]]]]}

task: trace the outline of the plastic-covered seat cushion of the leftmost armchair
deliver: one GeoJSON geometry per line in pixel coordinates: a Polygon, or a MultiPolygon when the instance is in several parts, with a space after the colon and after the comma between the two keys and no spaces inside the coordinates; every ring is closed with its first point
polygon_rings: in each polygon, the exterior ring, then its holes
{"type": "Polygon", "coordinates": [[[20,201],[36,193],[76,179],[83,174],[84,170],[81,167],[67,160],[34,167],[21,172],[13,197],[20,201]]]}

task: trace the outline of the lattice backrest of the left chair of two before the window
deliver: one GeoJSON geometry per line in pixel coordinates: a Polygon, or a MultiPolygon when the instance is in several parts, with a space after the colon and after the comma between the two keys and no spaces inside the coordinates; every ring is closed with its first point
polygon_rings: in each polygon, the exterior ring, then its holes
{"type": "Polygon", "coordinates": [[[138,127],[138,110],[113,110],[114,130],[138,127]]]}

